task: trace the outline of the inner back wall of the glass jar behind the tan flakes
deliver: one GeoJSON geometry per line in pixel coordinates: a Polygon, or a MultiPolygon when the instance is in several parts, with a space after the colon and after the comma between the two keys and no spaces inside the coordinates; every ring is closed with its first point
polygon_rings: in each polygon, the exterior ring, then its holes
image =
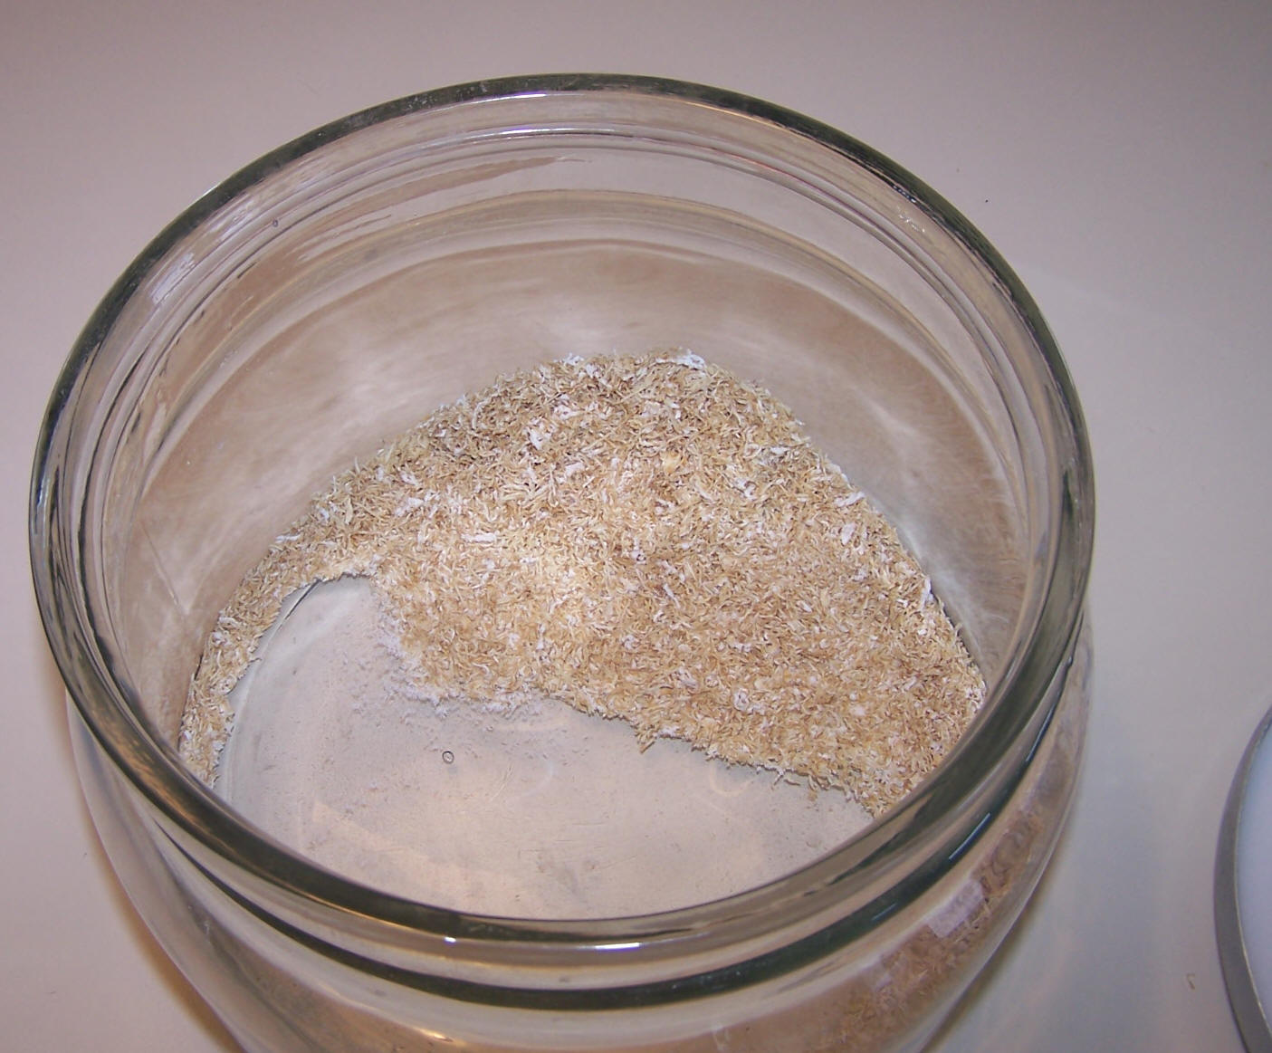
{"type": "MultiPolygon", "coordinates": [[[[772,390],[898,526],[991,694],[1039,618],[1057,423],[1033,333],[930,203],[796,128],[622,92],[350,122],[196,207],[103,310],[78,422],[102,436],[93,617],[172,763],[216,612],[308,500],[432,408],[569,355],[687,348],[772,390]]],[[[637,783],[613,806],[649,799],[637,783]]],[[[864,825],[842,822],[803,848],[757,842],[759,870],[700,847],[642,909],[796,870],[864,825]],[[736,874],[693,884],[703,869],[736,874]]],[[[555,866],[579,823],[539,823],[555,866]]]]}

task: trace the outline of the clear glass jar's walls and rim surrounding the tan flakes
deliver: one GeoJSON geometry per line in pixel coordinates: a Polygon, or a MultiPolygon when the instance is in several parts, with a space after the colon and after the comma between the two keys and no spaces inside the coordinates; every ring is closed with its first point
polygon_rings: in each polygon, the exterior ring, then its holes
{"type": "Polygon", "coordinates": [[[1062,825],[1093,500],[1037,308],[931,189],[754,99],[544,76],[321,128],[164,230],[52,396],[31,544],[102,841],[245,1049],[893,1050],[1062,825]],[[709,902],[682,870],[672,909],[514,917],[335,872],[191,776],[202,641],[335,472],[499,374],[655,347],[768,387],[925,563],[990,698],[917,791],[709,902]]]}

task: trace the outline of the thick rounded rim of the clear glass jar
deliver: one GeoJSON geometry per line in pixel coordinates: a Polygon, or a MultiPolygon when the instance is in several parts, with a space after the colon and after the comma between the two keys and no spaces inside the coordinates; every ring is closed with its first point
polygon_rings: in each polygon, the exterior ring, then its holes
{"type": "MultiPolygon", "coordinates": [[[[176,830],[209,852],[233,864],[254,881],[286,890],[300,900],[345,912],[361,922],[477,944],[522,942],[541,949],[558,947],[572,955],[602,955],[617,947],[641,949],[682,945],[684,940],[721,928],[735,933],[771,932],[795,918],[822,916],[842,900],[880,860],[923,841],[936,820],[962,809],[965,822],[941,846],[926,843],[929,864],[923,880],[935,881],[957,862],[977,832],[1002,808],[1014,781],[997,776],[987,792],[983,780],[965,763],[967,738],[955,750],[964,759],[945,763],[890,813],[862,834],[822,860],[766,885],[712,903],[659,914],[599,921],[494,918],[430,907],[393,897],[340,878],[276,844],[242,824],[215,795],[159,743],[128,706],[126,688],[111,674],[100,638],[76,596],[83,596],[83,567],[75,546],[78,530],[59,528],[56,520],[78,510],[64,509],[65,468],[59,458],[65,448],[70,417],[83,375],[93,368],[98,351],[121,310],[148,272],[173,244],[215,215],[226,202],[267,181],[272,173],[324,145],[363,128],[424,111],[499,98],[588,93],[603,95],[668,97],[731,114],[742,114],[780,131],[814,140],[840,155],[846,164],[865,168],[884,181],[911,206],[920,207],[946,235],[960,243],[985,266],[1032,336],[1044,379],[1049,411],[1061,432],[1060,448],[1068,460],[1061,465],[1060,492],[1053,515],[1053,549],[1046,574],[1040,616],[1020,647],[1011,680],[974,733],[978,759],[991,758],[995,771],[1014,749],[1030,750],[1046,730],[1051,712],[1042,699],[1065,656],[1072,652],[1081,627],[1091,562],[1094,482],[1090,449],[1081,411],[1058,348],[1032,296],[988,244],[949,202],[915,176],[878,151],[824,123],[771,103],[733,92],[677,80],[607,75],[558,74],[518,76],[454,85],[408,95],[319,127],[240,169],[209,191],[173,220],[136,258],[102,300],[78,338],[57,380],[39,434],[31,486],[29,540],[32,571],[41,617],[69,696],[93,736],[132,786],[173,824],[176,830]],[[1024,745],[1021,747],[1021,741],[1024,745]],[[976,808],[967,802],[977,799],[976,808]]],[[[83,469],[81,469],[83,471],[83,469]]],[[[979,764],[974,767],[981,767],[979,764]]],[[[202,869],[202,867],[201,867],[202,869]]],[[[205,870],[205,872],[207,872],[205,870]]],[[[913,890],[911,889],[911,893],[913,890]]],[[[895,903],[892,904],[895,908],[895,903]]],[[[868,927],[866,916],[887,911],[879,898],[836,923],[837,941],[868,927]],[[868,909],[869,908],[869,909],[868,909]]],[[[826,928],[818,946],[824,949],[826,928]]],[[[812,937],[808,937],[812,939],[812,937]]],[[[692,940],[691,940],[692,942],[692,940]]],[[[809,947],[812,950],[812,947],[809,947]]],[[[790,958],[787,954],[782,960],[790,958]]],[[[599,959],[598,959],[599,960],[599,959]]],[[[777,963],[773,963],[775,967],[777,963]]]]}

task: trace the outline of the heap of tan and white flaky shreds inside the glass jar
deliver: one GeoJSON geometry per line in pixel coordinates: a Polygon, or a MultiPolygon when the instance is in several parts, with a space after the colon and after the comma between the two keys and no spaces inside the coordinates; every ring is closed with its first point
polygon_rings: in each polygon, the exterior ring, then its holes
{"type": "Polygon", "coordinates": [[[691,354],[502,378],[335,478],[209,636],[181,733],[201,778],[284,599],[343,575],[429,697],[556,698],[875,815],[985,696],[888,521],[786,407],[691,354]]]}

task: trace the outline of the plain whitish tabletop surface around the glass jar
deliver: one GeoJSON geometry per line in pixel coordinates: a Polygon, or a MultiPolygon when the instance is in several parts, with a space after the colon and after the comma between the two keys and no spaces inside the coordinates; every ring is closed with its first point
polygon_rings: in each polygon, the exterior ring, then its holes
{"type": "Polygon", "coordinates": [[[1091,430],[1095,702],[1077,802],[954,1050],[1235,1053],[1212,870],[1272,702],[1272,4],[0,0],[0,1048],[233,1044],[114,883],[29,584],[27,478],[88,314],[202,191],[331,118],[561,70],[836,125],[1020,272],[1091,430]]]}

